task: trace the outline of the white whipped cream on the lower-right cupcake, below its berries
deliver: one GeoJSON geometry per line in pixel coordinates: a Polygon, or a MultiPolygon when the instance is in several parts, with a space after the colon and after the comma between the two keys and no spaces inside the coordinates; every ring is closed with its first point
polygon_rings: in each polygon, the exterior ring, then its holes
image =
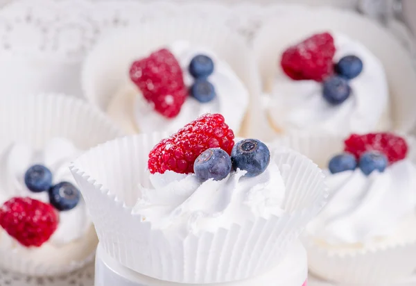
{"type": "Polygon", "coordinates": [[[329,201],[307,227],[315,239],[333,245],[367,245],[402,232],[402,222],[415,217],[416,167],[410,160],[370,176],[358,168],[327,173],[329,201]]]}

